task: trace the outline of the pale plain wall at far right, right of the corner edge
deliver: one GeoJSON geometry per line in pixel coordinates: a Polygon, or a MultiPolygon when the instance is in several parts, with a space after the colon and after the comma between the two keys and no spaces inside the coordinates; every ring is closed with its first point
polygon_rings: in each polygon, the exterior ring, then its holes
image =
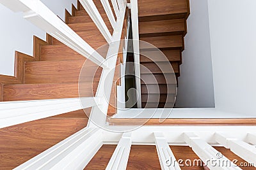
{"type": "Polygon", "coordinates": [[[256,115],[256,1],[209,0],[216,108],[256,115]]]}

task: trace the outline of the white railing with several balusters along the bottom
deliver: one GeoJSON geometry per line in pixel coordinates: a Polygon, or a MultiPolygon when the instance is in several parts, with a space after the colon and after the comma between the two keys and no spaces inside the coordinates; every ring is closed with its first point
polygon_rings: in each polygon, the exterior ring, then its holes
{"type": "MultiPolygon", "coordinates": [[[[125,127],[115,126],[120,131],[125,127]]],[[[132,132],[104,131],[86,127],[52,146],[16,169],[84,169],[102,145],[116,145],[106,169],[125,170],[132,145],[155,145],[161,169],[202,166],[210,169],[241,169],[243,164],[225,157],[218,148],[230,148],[247,167],[256,167],[255,126],[143,126],[132,132]],[[187,131],[186,131],[187,129],[187,131]],[[177,160],[170,148],[190,146],[200,159],[177,160]]],[[[241,162],[240,162],[241,163],[241,162]]]]}

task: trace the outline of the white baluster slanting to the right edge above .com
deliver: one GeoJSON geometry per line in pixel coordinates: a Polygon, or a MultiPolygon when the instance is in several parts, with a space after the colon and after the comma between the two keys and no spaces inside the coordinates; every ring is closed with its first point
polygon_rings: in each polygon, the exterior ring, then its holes
{"type": "Polygon", "coordinates": [[[256,167],[256,148],[255,146],[249,145],[244,141],[236,139],[236,136],[233,138],[227,138],[227,135],[223,135],[220,132],[216,132],[215,139],[218,143],[223,145],[225,148],[230,148],[230,150],[246,160],[249,163],[253,163],[253,166],[256,167]]]}

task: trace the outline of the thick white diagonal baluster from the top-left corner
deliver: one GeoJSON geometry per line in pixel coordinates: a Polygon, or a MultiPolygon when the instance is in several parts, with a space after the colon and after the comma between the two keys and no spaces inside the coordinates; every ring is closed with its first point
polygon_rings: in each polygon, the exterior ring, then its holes
{"type": "Polygon", "coordinates": [[[41,1],[0,0],[0,3],[13,11],[22,11],[24,13],[24,18],[29,20],[29,22],[49,33],[77,53],[92,60],[92,62],[95,62],[98,66],[106,67],[104,64],[105,59],[41,1]]]}

